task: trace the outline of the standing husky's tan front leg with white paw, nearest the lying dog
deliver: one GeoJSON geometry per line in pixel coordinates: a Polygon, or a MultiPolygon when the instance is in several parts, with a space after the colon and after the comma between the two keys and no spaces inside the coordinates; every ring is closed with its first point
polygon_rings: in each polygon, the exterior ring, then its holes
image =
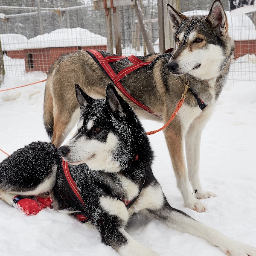
{"type": "MultiPolygon", "coordinates": [[[[177,131],[177,129],[176,129],[177,131]]],[[[177,180],[177,188],[183,196],[184,206],[197,212],[204,212],[206,207],[196,199],[189,187],[189,177],[186,171],[186,162],[183,148],[183,135],[177,134],[172,127],[164,130],[166,142],[172,159],[172,166],[177,180]]]]}

